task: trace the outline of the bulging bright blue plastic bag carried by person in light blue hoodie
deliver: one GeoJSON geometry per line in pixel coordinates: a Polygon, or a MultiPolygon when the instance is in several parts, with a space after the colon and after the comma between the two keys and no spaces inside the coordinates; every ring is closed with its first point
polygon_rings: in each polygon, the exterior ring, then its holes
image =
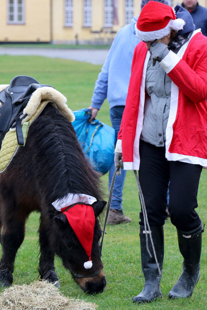
{"type": "Polygon", "coordinates": [[[83,108],[73,111],[72,122],[77,139],[95,170],[105,174],[114,162],[115,130],[98,119],[88,122],[91,111],[83,108]]]}

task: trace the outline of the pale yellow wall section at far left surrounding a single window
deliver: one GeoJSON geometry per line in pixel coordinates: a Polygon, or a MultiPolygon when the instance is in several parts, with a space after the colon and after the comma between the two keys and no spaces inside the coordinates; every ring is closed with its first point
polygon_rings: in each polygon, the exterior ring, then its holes
{"type": "Polygon", "coordinates": [[[50,0],[25,0],[24,24],[7,24],[7,0],[0,11],[0,42],[50,41],[50,0]]]}

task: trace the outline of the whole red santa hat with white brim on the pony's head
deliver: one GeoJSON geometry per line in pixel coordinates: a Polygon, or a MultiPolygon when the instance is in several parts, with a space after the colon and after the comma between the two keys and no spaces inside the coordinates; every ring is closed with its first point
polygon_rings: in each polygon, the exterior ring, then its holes
{"type": "Polygon", "coordinates": [[[65,214],[68,223],[89,257],[84,263],[86,269],[92,267],[91,250],[95,226],[95,214],[91,206],[96,198],[85,194],[71,194],[52,202],[56,210],[65,214]]]}

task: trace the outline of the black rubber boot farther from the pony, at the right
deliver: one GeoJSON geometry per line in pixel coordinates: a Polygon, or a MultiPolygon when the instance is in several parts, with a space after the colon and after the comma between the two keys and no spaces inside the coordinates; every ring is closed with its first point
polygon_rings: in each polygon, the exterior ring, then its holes
{"type": "Polygon", "coordinates": [[[200,277],[200,253],[203,231],[202,223],[191,232],[182,232],[177,229],[178,245],[184,260],[182,263],[182,274],[169,292],[169,298],[187,298],[192,295],[200,277]]]}

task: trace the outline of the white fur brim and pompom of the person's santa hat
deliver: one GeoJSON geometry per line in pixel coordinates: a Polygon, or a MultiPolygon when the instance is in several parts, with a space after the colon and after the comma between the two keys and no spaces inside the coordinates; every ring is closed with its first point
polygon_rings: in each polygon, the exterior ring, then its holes
{"type": "Polygon", "coordinates": [[[135,24],[135,32],[136,32],[136,37],[140,39],[141,41],[153,41],[155,39],[161,39],[164,38],[165,36],[170,34],[171,30],[181,30],[183,29],[183,26],[185,24],[185,21],[182,20],[182,18],[178,18],[176,20],[170,20],[169,23],[167,24],[166,27],[163,29],[159,30],[154,30],[154,31],[140,31],[137,29],[137,25],[135,24]]]}

